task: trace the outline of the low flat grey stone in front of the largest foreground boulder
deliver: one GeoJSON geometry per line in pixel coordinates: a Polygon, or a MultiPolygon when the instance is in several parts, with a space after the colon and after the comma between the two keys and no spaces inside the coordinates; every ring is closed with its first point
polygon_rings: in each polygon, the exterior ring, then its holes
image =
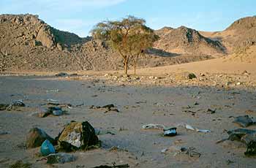
{"type": "Polygon", "coordinates": [[[53,153],[47,156],[47,164],[64,164],[75,160],[76,157],[68,153],[53,153]]]}

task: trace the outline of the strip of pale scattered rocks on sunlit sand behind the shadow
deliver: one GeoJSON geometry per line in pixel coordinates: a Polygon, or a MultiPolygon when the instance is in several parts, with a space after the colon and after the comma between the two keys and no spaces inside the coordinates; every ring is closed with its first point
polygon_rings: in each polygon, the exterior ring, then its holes
{"type": "Polygon", "coordinates": [[[210,74],[181,72],[161,76],[137,76],[105,74],[80,76],[81,80],[89,80],[94,83],[109,83],[117,85],[200,85],[214,86],[218,88],[255,88],[256,82],[250,78],[249,72],[241,74],[210,74]]]}

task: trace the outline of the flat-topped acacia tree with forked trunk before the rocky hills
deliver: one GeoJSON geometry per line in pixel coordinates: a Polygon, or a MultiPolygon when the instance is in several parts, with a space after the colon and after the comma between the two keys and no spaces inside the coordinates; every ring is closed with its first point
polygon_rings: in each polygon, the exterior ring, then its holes
{"type": "MultiPolygon", "coordinates": [[[[128,16],[120,21],[103,21],[92,30],[94,39],[105,40],[121,56],[124,73],[127,75],[129,62],[134,66],[138,56],[148,47],[152,47],[158,36],[146,26],[146,20],[128,16]]],[[[136,68],[136,66],[135,66],[136,68]]]]}

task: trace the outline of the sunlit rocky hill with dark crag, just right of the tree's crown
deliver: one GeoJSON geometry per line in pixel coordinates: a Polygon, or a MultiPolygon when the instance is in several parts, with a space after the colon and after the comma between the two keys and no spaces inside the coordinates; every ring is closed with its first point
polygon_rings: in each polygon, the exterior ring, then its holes
{"type": "Polygon", "coordinates": [[[155,47],[170,53],[211,56],[225,54],[225,47],[219,41],[203,37],[192,28],[185,26],[179,28],[165,27],[156,32],[160,39],[155,43],[155,47]]]}

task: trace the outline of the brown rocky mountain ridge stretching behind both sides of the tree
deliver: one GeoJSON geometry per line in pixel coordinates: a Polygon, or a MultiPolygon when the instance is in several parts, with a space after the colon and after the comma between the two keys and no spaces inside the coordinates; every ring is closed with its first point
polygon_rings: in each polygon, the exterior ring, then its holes
{"type": "MultiPolygon", "coordinates": [[[[236,21],[225,31],[234,31],[244,22],[249,30],[245,32],[244,38],[252,38],[249,42],[253,43],[256,39],[251,35],[255,31],[254,23],[236,21]]],[[[182,64],[206,60],[212,56],[225,56],[226,47],[230,48],[228,42],[233,40],[226,40],[229,36],[227,38],[223,34],[217,38],[217,33],[202,35],[184,26],[164,27],[155,32],[160,39],[154,48],[141,56],[138,62],[140,67],[182,64]]],[[[111,69],[122,69],[121,58],[105,42],[59,31],[40,20],[37,15],[0,15],[1,72],[111,69]]]]}

